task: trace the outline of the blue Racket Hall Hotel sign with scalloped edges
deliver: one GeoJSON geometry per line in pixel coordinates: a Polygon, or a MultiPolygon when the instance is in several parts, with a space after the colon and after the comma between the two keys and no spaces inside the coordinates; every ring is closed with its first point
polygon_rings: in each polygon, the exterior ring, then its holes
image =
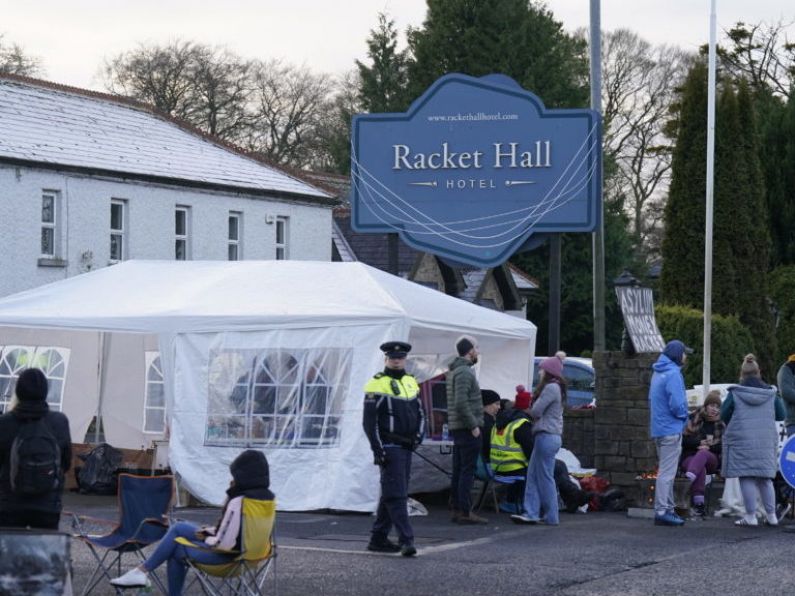
{"type": "Polygon", "coordinates": [[[405,114],[354,117],[352,226],[499,265],[534,233],[595,229],[600,138],[592,110],[548,110],[503,75],[445,75],[405,114]]]}

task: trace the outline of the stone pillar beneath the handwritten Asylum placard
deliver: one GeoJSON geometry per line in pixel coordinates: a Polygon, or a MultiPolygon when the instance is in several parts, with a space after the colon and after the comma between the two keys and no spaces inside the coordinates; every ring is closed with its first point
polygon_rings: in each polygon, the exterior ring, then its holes
{"type": "Polygon", "coordinates": [[[658,354],[596,352],[596,409],[593,466],[610,484],[636,503],[640,487],[635,477],[657,468],[649,437],[649,383],[658,354]]]}

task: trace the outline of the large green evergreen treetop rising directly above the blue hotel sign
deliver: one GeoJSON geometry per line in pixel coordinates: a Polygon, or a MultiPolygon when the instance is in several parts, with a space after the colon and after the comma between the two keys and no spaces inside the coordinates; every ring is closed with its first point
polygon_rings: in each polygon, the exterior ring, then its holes
{"type": "Polygon", "coordinates": [[[502,73],[547,106],[588,101],[585,43],[563,32],[541,5],[527,0],[428,0],[422,28],[408,35],[412,98],[440,76],[502,73]]]}

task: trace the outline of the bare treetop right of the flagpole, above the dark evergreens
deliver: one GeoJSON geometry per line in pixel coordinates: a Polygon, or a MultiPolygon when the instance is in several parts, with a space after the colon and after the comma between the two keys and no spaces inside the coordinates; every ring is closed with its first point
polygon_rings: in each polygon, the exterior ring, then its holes
{"type": "Polygon", "coordinates": [[[793,23],[737,23],[726,31],[728,48],[719,48],[720,56],[736,78],[744,78],[756,88],[769,88],[789,97],[795,83],[795,43],[787,30],[793,23]]]}

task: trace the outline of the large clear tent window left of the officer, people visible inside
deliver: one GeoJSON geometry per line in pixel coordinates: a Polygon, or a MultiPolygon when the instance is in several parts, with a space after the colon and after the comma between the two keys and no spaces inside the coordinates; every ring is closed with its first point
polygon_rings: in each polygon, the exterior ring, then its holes
{"type": "Polygon", "coordinates": [[[336,445],[350,363],[351,351],[335,348],[211,354],[205,443],[336,445]]]}

